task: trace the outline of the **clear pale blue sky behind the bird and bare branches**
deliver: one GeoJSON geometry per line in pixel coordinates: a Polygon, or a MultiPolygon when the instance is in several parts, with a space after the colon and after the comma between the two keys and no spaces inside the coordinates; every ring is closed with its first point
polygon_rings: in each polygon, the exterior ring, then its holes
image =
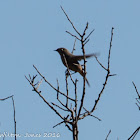
{"type": "MultiPolygon", "coordinates": [[[[114,27],[111,52],[112,74],[94,115],[102,121],[87,117],[79,122],[79,139],[103,140],[111,129],[108,140],[125,140],[140,126],[140,112],[135,105],[137,94],[132,85],[135,82],[140,91],[140,1],[139,0],[4,0],[0,1],[0,98],[14,95],[17,133],[60,133],[60,138],[48,140],[71,140],[72,134],[64,126],[52,128],[61,119],[32,91],[24,75],[36,74],[33,64],[56,86],[65,91],[65,67],[60,56],[53,50],[65,47],[72,50],[75,34],[62,12],[63,6],[75,27],[83,32],[89,22],[88,33],[95,29],[86,53],[99,52],[99,60],[107,66],[107,56],[114,27]]],[[[82,54],[76,42],[74,54],[82,54]]],[[[87,78],[91,87],[86,88],[85,107],[91,109],[104,83],[106,72],[94,58],[87,63],[87,78]]],[[[82,77],[73,75],[78,82],[78,98],[82,94],[82,77]]],[[[38,76],[37,78],[41,78],[38,76]]],[[[70,95],[74,89],[71,81],[70,95]]],[[[56,92],[44,82],[40,86],[42,95],[54,101],[56,92]]],[[[12,100],[0,102],[0,133],[14,132],[12,100]]],[[[5,140],[11,140],[6,138],[5,140]]],[[[13,138],[14,139],[14,138],[13,138]]],[[[46,138],[25,138],[19,140],[44,140],[46,138]]],[[[140,133],[135,140],[140,139],[140,133]]],[[[2,140],[2,138],[0,138],[2,140]]]]}

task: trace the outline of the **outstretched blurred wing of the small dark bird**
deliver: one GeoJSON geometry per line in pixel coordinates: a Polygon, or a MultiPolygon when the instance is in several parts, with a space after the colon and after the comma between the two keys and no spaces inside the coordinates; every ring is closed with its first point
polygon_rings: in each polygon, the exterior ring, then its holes
{"type": "MultiPolygon", "coordinates": [[[[98,53],[92,53],[92,54],[86,54],[86,58],[90,58],[90,57],[97,57],[99,54],[98,53]]],[[[82,59],[84,59],[83,55],[73,55],[72,57],[73,60],[77,60],[80,61],[82,59]]]]}

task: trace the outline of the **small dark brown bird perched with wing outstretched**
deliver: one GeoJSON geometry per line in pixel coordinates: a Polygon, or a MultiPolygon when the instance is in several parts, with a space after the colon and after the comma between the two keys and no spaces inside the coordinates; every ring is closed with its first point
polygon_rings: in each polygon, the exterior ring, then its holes
{"type": "MultiPolygon", "coordinates": [[[[65,67],[68,67],[70,70],[72,70],[74,72],[78,72],[82,77],[84,77],[85,73],[83,71],[81,64],[78,62],[78,61],[84,59],[83,55],[73,55],[66,48],[58,48],[54,51],[57,51],[59,53],[62,63],[64,64],[65,67]]],[[[90,58],[93,56],[96,57],[97,54],[92,53],[92,54],[85,55],[86,58],[90,58]]],[[[86,77],[85,77],[85,80],[86,80],[88,86],[90,86],[86,77]]]]}

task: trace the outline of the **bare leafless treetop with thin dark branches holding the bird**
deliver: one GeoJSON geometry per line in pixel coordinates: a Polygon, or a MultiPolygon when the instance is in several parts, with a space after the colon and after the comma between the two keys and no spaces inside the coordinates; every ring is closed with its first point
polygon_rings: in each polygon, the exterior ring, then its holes
{"type": "MultiPolygon", "coordinates": [[[[59,122],[58,124],[56,124],[54,127],[61,125],[61,124],[65,124],[65,126],[68,128],[68,130],[70,130],[73,134],[73,140],[78,140],[78,121],[84,119],[87,116],[92,116],[94,118],[96,118],[97,120],[101,121],[98,117],[93,115],[93,112],[95,111],[101,96],[105,90],[105,87],[107,85],[107,81],[108,78],[111,76],[114,76],[115,74],[111,74],[110,72],[110,56],[111,56],[111,48],[112,48],[112,39],[113,39],[113,27],[111,30],[111,40],[110,40],[110,46],[109,46],[109,52],[108,52],[108,60],[107,60],[107,67],[105,67],[99,60],[97,57],[97,63],[101,66],[101,68],[103,68],[106,71],[106,76],[105,76],[105,81],[103,83],[103,87],[101,88],[100,92],[98,93],[98,97],[97,99],[95,99],[95,101],[93,102],[93,106],[91,109],[86,109],[84,107],[84,99],[85,99],[85,94],[86,94],[86,58],[85,58],[85,45],[87,45],[87,43],[89,42],[89,37],[90,35],[93,33],[94,30],[92,30],[88,35],[86,35],[86,31],[88,30],[89,24],[87,22],[83,33],[80,33],[76,27],[74,26],[73,22],[70,20],[69,16],[67,15],[67,13],[65,12],[65,10],[61,7],[63,13],[65,14],[67,20],[69,21],[69,23],[71,24],[72,28],[74,29],[76,35],[72,34],[69,31],[66,31],[66,33],[68,33],[69,35],[71,35],[72,37],[74,37],[77,41],[79,41],[81,43],[81,50],[84,56],[84,64],[83,64],[83,71],[84,71],[84,77],[83,77],[83,88],[82,88],[82,95],[81,97],[77,96],[77,79],[73,80],[72,74],[70,73],[70,70],[68,68],[67,65],[67,71],[68,73],[65,73],[65,77],[66,77],[66,93],[63,93],[62,91],[60,91],[59,89],[59,82],[57,80],[57,87],[53,86],[46,78],[44,75],[41,74],[41,72],[38,70],[38,68],[33,65],[34,69],[36,70],[36,72],[39,74],[39,76],[41,77],[41,80],[39,80],[38,82],[36,82],[36,77],[37,75],[33,75],[31,76],[29,74],[29,77],[25,76],[25,78],[28,80],[28,82],[30,83],[30,85],[33,88],[33,91],[35,91],[39,97],[48,105],[48,107],[50,107],[57,116],[59,116],[62,121],[59,122]],[[69,96],[69,84],[68,84],[68,76],[70,77],[72,83],[73,83],[73,87],[74,87],[74,98],[71,98],[69,96]],[[42,81],[46,82],[53,90],[56,91],[56,98],[57,98],[57,102],[49,102],[47,101],[41,94],[41,90],[39,90],[40,84],[42,83],[42,81]],[[62,102],[62,100],[60,99],[60,96],[65,98],[65,102],[62,102]],[[60,113],[58,110],[62,110],[65,113],[60,113]]],[[[73,46],[73,50],[72,53],[75,50],[75,43],[73,46]]],[[[71,88],[71,87],[70,87],[71,88]]],[[[110,131],[111,132],[111,131],[110,131]]],[[[109,133],[110,133],[109,132],[109,133]]],[[[109,134],[108,134],[109,135],[109,134]]],[[[107,136],[108,137],[108,136],[107,136]]],[[[107,139],[107,138],[106,138],[107,139]]]]}

